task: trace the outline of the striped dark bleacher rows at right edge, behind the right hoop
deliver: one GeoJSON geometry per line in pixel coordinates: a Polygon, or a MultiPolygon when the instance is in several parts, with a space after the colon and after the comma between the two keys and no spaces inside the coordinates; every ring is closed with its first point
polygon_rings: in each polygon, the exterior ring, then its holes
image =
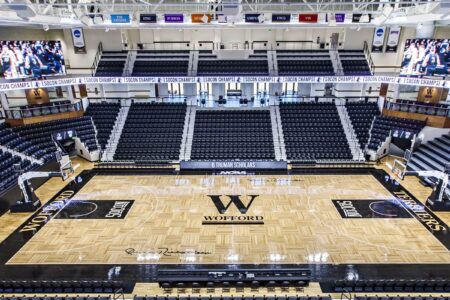
{"type": "MultiPolygon", "coordinates": [[[[410,171],[443,171],[448,164],[450,164],[450,134],[443,135],[420,145],[412,153],[406,166],[407,170],[410,171]]],[[[422,179],[427,184],[434,184],[437,181],[434,177],[422,179]]],[[[450,195],[450,184],[447,186],[446,192],[450,195]]]]}

